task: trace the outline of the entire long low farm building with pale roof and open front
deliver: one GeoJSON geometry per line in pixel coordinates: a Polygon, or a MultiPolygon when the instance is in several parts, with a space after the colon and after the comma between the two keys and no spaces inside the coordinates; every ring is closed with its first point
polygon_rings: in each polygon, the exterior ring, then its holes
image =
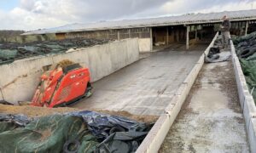
{"type": "Polygon", "coordinates": [[[172,45],[189,41],[212,39],[227,15],[231,21],[231,35],[246,35],[255,31],[256,9],[225,11],[209,14],[183,14],[139,20],[102,21],[90,24],[73,24],[56,28],[29,31],[23,35],[55,34],[57,39],[85,37],[120,40],[138,37],[140,51],[152,51],[154,46],[172,45]]]}

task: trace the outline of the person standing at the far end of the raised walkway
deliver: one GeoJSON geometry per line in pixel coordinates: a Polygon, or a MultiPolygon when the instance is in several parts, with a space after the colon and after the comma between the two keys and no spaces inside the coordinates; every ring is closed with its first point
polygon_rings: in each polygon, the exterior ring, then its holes
{"type": "Polygon", "coordinates": [[[231,23],[229,18],[224,15],[222,18],[223,22],[221,24],[221,35],[222,35],[222,46],[223,48],[229,48],[230,40],[230,27],[231,23]]]}

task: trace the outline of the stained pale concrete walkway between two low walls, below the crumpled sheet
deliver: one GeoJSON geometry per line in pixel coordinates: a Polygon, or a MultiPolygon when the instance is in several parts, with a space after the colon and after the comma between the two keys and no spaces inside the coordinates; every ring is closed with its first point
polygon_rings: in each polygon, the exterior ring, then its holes
{"type": "Polygon", "coordinates": [[[205,64],[160,152],[249,152],[231,61],[205,64]]]}

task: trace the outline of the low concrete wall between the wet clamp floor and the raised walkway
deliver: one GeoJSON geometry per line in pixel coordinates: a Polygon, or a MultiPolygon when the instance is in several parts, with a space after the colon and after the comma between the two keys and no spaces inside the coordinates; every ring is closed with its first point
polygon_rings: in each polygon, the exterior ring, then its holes
{"type": "MultiPolygon", "coordinates": [[[[205,50],[204,54],[208,54],[210,48],[213,46],[214,41],[218,37],[218,33],[213,38],[211,44],[205,50]]],[[[195,63],[194,68],[190,71],[189,76],[186,77],[181,86],[177,89],[176,94],[170,101],[170,105],[166,107],[165,114],[162,114],[160,118],[155,122],[154,127],[150,130],[147,137],[143,140],[143,143],[137,149],[137,153],[155,153],[160,149],[161,144],[164,139],[166,139],[166,134],[168,133],[172,123],[175,121],[182,105],[189,91],[192,88],[195,79],[201,71],[201,67],[204,64],[205,55],[202,54],[200,59],[195,63]]]]}

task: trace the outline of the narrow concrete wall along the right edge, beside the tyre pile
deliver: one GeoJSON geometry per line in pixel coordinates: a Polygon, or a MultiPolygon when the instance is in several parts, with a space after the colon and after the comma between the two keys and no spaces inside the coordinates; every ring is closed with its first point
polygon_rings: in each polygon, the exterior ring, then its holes
{"type": "Polygon", "coordinates": [[[241,65],[236,56],[236,49],[233,42],[230,41],[230,44],[241,110],[243,111],[243,116],[246,122],[247,138],[249,140],[251,152],[256,153],[256,106],[254,104],[253,96],[249,93],[249,89],[247,88],[247,82],[241,71],[241,65]]]}

